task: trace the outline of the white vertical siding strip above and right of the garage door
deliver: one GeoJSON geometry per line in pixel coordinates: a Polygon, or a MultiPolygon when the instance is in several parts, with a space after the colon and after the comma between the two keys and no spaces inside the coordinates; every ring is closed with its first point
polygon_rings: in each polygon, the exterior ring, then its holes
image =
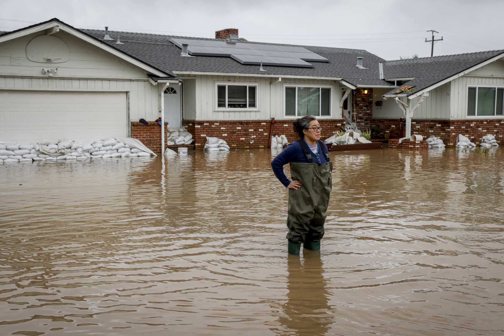
{"type": "Polygon", "coordinates": [[[159,116],[158,87],[148,81],[0,77],[1,90],[125,92],[130,121],[159,116]]]}

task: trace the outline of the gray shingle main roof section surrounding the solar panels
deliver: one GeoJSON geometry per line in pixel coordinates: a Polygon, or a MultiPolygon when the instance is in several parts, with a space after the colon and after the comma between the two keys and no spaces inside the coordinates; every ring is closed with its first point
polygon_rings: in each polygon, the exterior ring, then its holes
{"type": "MultiPolygon", "coordinates": [[[[98,39],[102,39],[105,34],[104,30],[82,29],[82,31],[98,39]]],[[[180,48],[168,41],[170,38],[177,37],[195,40],[215,39],[134,32],[109,31],[108,33],[114,40],[102,40],[103,42],[142,59],[156,68],[164,72],[169,72],[170,74],[173,74],[173,71],[254,75],[273,74],[279,76],[343,78],[353,85],[392,85],[388,82],[380,80],[378,63],[385,60],[366,50],[302,45],[303,48],[326,57],[330,60],[330,63],[310,61],[309,63],[313,65],[312,69],[264,65],[263,68],[266,72],[260,72],[259,65],[241,64],[229,57],[180,56],[180,48]],[[118,35],[120,36],[121,42],[124,44],[115,44],[118,35]],[[364,57],[363,64],[367,69],[357,68],[356,64],[358,56],[364,57]]],[[[261,44],[279,45],[278,43],[261,44]]]]}

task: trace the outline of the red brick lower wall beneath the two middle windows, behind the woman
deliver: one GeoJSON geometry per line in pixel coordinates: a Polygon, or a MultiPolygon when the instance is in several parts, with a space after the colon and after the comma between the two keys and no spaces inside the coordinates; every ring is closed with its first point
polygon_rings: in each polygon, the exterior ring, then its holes
{"type": "MultiPolygon", "coordinates": [[[[293,120],[275,120],[272,135],[282,135],[290,142],[298,137],[292,130],[293,120]]],[[[321,139],[331,137],[344,126],[341,119],[319,119],[322,126],[321,139]]],[[[195,149],[205,146],[206,137],[224,139],[232,148],[267,148],[270,138],[271,120],[183,120],[182,124],[193,135],[195,149]],[[254,142],[250,144],[250,141],[254,142]]]]}

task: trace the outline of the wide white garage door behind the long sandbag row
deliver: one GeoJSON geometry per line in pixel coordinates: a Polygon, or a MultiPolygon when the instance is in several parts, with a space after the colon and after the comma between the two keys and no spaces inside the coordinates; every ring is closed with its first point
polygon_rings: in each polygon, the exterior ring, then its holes
{"type": "Polygon", "coordinates": [[[124,92],[0,90],[0,141],[84,141],[127,136],[124,92]]]}

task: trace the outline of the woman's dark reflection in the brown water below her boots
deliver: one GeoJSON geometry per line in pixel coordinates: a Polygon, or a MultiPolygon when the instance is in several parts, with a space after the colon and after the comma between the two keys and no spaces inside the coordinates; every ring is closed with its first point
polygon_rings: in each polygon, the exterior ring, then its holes
{"type": "Polygon", "coordinates": [[[324,335],[334,322],[330,315],[329,292],[324,279],[320,251],[303,250],[303,255],[288,255],[287,302],[279,322],[297,334],[324,335]],[[301,263],[301,259],[303,263],[301,263]]]}

